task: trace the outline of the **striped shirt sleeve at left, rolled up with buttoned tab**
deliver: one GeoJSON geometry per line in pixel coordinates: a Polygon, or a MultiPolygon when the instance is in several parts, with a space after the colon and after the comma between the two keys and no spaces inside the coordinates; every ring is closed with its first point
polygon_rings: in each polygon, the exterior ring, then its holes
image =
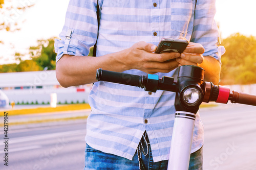
{"type": "Polygon", "coordinates": [[[64,55],[87,56],[97,39],[97,0],[69,3],[65,25],[55,39],[56,62],[64,55]]]}

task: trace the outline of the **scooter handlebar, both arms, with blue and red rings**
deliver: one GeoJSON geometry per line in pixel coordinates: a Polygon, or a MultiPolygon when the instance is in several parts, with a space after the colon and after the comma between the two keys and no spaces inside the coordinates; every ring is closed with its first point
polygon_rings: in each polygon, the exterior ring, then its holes
{"type": "MultiPolygon", "coordinates": [[[[156,92],[158,89],[176,92],[177,86],[174,79],[169,77],[162,77],[162,79],[158,79],[157,77],[152,79],[150,76],[137,76],[122,72],[102,70],[101,68],[97,69],[96,79],[98,81],[141,87],[144,88],[145,91],[152,92],[156,92]]],[[[256,106],[256,95],[238,91],[230,92],[228,87],[216,86],[211,82],[205,82],[202,87],[204,88],[203,102],[208,103],[209,101],[214,101],[216,103],[226,104],[230,101],[231,103],[256,106]]]]}

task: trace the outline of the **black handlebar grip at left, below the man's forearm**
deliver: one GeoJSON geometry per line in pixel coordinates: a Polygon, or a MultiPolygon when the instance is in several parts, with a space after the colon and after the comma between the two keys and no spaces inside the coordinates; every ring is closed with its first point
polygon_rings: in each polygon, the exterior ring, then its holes
{"type": "Polygon", "coordinates": [[[98,81],[107,81],[137,87],[140,87],[142,82],[142,76],[108,71],[101,68],[97,69],[96,79],[98,81]]]}

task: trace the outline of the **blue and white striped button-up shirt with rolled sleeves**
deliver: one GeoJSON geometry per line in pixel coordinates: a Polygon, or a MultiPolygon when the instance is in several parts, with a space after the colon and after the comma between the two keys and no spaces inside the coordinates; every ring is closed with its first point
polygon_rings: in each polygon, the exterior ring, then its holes
{"type": "MultiPolygon", "coordinates": [[[[215,1],[198,0],[196,6],[195,3],[195,0],[99,0],[97,56],[124,50],[138,41],[157,45],[163,37],[184,37],[201,43],[204,56],[220,61],[215,1]]],[[[63,54],[89,54],[97,39],[96,11],[97,0],[70,1],[60,40],[55,40],[56,62],[63,54]],[[70,33],[71,37],[66,38],[70,33]]],[[[172,77],[174,71],[156,75],[172,77]]],[[[146,75],[136,69],[124,72],[146,75]]],[[[174,99],[175,93],[169,91],[150,94],[138,87],[96,82],[89,95],[92,112],[87,121],[86,142],[102,152],[132,160],[146,130],[154,162],[167,160],[174,125],[174,99]]],[[[191,153],[202,145],[203,124],[197,114],[191,153]]]]}

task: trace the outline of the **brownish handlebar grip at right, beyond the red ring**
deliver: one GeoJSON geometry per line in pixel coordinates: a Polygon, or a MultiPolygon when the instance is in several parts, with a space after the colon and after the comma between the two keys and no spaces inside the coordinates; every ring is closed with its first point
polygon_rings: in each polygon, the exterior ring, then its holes
{"type": "Polygon", "coordinates": [[[233,99],[231,100],[231,103],[240,103],[245,105],[256,106],[256,95],[242,93],[238,91],[232,91],[232,92],[233,92],[233,99]]]}

